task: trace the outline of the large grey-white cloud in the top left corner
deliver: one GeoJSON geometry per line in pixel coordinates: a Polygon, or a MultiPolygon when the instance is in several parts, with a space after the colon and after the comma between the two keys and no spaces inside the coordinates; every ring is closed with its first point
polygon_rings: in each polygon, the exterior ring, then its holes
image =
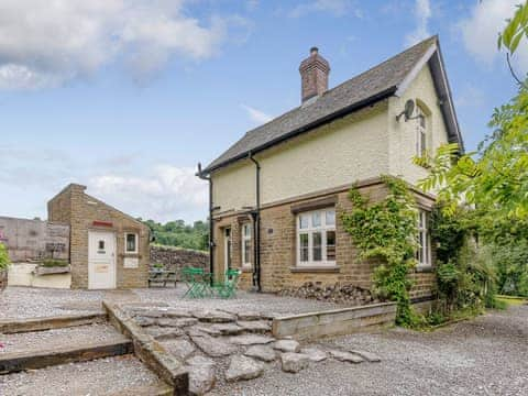
{"type": "Polygon", "coordinates": [[[200,21],[184,6],[185,0],[2,0],[0,88],[54,86],[118,59],[141,74],[173,56],[213,56],[230,22],[200,21]]]}

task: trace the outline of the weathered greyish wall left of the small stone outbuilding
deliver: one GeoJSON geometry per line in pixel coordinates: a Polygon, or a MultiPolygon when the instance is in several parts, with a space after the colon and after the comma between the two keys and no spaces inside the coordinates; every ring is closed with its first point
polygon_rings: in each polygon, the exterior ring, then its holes
{"type": "Polygon", "coordinates": [[[0,242],[13,263],[42,258],[69,260],[69,226],[0,217],[0,242]]]}

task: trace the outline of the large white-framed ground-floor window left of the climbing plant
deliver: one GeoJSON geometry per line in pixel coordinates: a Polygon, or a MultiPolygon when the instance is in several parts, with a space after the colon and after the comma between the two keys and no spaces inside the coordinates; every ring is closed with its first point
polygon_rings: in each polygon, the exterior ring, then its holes
{"type": "Polygon", "coordinates": [[[336,265],[336,210],[297,216],[297,265],[336,265]]]}

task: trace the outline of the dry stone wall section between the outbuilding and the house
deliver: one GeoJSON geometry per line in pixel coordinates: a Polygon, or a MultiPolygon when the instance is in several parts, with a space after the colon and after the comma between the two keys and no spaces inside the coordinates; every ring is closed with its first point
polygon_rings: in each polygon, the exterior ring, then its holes
{"type": "Polygon", "coordinates": [[[179,276],[182,268],[186,266],[209,270],[209,254],[188,249],[152,245],[151,267],[154,264],[163,264],[166,268],[176,271],[176,276],[179,276]]]}

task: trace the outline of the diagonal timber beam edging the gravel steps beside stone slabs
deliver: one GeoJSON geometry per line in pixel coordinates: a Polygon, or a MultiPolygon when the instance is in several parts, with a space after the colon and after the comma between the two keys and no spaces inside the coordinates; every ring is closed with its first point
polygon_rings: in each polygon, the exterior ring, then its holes
{"type": "Polygon", "coordinates": [[[173,387],[174,395],[186,395],[189,391],[189,373],[183,362],[172,356],[160,342],[146,334],[118,305],[103,300],[102,306],[110,323],[132,339],[134,354],[173,387]]]}

